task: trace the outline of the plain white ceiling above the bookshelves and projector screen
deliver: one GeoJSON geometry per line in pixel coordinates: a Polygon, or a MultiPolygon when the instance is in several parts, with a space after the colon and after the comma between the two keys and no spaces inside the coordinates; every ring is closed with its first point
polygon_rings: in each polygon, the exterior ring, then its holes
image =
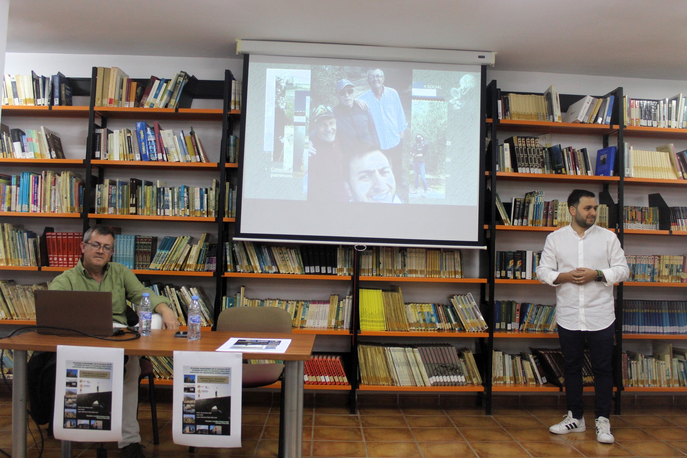
{"type": "Polygon", "coordinates": [[[499,70],[687,79],[682,0],[12,0],[7,51],[226,58],[236,38],[497,51],[499,70]]]}

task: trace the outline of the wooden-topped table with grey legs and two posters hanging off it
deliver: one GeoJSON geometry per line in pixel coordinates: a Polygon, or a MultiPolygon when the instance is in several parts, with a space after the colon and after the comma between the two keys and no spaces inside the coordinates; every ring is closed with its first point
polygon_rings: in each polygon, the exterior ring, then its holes
{"type": "MultiPolygon", "coordinates": [[[[129,334],[131,336],[131,334],[129,334]]],[[[133,356],[173,356],[174,351],[214,352],[230,337],[291,339],[284,353],[244,353],[244,359],[284,360],[284,457],[301,458],[303,438],[303,367],[311,357],[312,334],[266,334],[262,332],[204,332],[201,340],[174,337],[174,331],[153,330],[149,337],[134,341],[104,341],[91,337],[50,336],[27,332],[0,339],[0,349],[14,350],[12,387],[12,457],[26,458],[27,350],[55,352],[58,345],[123,348],[133,356]]],[[[113,338],[114,339],[114,338],[113,338]]],[[[63,458],[71,457],[71,443],[63,441],[63,458]]]]}

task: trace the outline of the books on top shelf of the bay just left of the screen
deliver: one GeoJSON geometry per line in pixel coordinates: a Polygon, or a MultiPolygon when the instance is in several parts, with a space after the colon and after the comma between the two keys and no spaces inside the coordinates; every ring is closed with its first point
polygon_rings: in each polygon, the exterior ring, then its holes
{"type": "Polygon", "coordinates": [[[133,108],[190,108],[182,100],[183,87],[195,80],[185,71],[174,73],[170,79],[150,76],[148,84],[135,82],[118,67],[98,67],[95,76],[95,106],[123,106],[133,108]]]}

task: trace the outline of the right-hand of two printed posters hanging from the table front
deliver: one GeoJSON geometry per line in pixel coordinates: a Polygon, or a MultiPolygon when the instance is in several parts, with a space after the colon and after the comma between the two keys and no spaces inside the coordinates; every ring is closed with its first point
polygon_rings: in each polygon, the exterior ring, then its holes
{"type": "Polygon", "coordinates": [[[241,446],[241,354],[174,352],[174,444],[241,446]]]}

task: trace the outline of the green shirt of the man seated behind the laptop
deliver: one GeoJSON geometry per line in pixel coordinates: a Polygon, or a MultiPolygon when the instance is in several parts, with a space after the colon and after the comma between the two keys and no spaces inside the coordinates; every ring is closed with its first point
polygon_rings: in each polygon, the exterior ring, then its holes
{"type": "Polygon", "coordinates": [[[109,291],[112,293],[112,319],[126,325],[126,301],[139,304],[143,293],[150,293],[150,303],[153,310],[159,304],[170,304],[169,299],[153,293],[138,281],[136,275],[128,267],[119,262],[108,262],[102,282],[98,283],[84,268],[81,261],[76,267],[60,273],[52,281],[48,289],[67,291],[109,291]]]}

